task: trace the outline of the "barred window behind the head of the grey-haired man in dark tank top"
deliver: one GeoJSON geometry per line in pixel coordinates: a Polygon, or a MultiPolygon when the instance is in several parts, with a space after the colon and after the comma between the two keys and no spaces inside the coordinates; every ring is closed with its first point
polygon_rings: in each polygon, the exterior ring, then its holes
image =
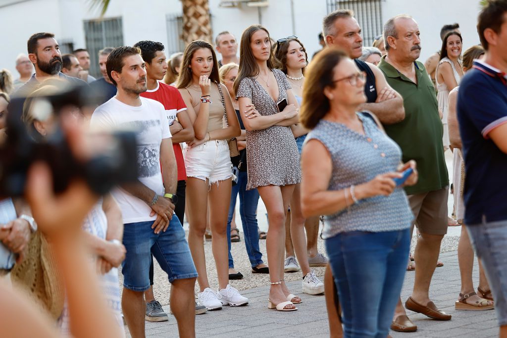
{"type": "Polygon", "coordinates": [[[382,34],[382,0],[328,0],[328,13],[338,9],[354,11],[362,30],[363,45],[371,46],[375,37],[382,34]]]}

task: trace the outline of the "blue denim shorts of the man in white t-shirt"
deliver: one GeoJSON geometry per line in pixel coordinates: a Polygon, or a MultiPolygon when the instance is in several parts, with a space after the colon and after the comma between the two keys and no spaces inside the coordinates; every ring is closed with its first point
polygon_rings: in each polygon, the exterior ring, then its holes
{"type": "Polygon", "coordinates": [[[153,232],[153,222],[124,224],[123,245],[127,253],[122,262],[123,286],[132,291],[150,288],[151,254],[167,273],[169,283],[176,279],[197,277],[185,230],[178,217],[173,214],[169,227],[160,234],[153,232]]]}

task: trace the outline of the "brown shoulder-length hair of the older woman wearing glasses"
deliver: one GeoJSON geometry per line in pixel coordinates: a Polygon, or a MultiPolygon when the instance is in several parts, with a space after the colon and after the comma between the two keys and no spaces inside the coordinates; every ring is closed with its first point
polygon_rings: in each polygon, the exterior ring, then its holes
{"type": "Polygon", "coordinates": [[[307,129],[313,129],[328,114],[331,105],[324,95],[324,88],[334,88],[334,71],[343,59],[345,52],[336,48],[326,48],[319,52],[308,67],[303,87],[303,104],[299,112],[299,121],[307,129]]]}

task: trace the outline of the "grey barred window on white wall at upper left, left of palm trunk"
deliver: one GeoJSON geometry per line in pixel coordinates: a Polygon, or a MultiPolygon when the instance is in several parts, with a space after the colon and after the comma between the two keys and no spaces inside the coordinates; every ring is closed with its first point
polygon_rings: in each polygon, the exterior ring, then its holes
{"type": "Polygon", "coordinates": [[[86,49],[90,54],[90,74],[100,79],[98,52],[104,47],[123,46],[122,18],[85,20],[86,49]]]}

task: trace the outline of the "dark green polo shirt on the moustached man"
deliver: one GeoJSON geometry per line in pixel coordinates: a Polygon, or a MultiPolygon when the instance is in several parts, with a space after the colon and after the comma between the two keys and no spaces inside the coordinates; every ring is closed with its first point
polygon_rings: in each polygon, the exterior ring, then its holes
{"type": "Polygon", "coordinates": [[[405,188],[407,195],[440,190],[449,185],[442,143],[444,128],[435,88],[424,65],[419,61],[415,61],[414,65],[417,84],[387,63],[385,57],[378,65],[389,86],[403,97],[405,120],[384,125],[384,128],[402,148],[403,162],[417,162],[419,180],[416,185],[405,188]]]}

